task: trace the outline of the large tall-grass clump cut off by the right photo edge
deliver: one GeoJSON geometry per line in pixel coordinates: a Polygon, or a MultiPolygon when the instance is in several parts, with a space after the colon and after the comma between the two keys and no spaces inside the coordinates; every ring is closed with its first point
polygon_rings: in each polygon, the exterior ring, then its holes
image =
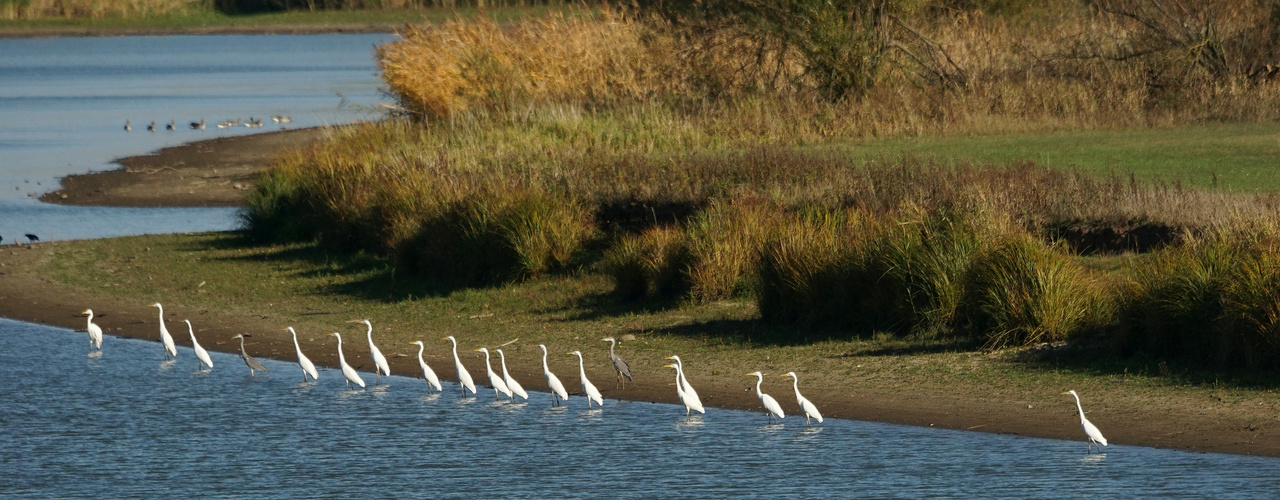
{"type": "Polygon", "coordinates": [[[1188,234],[1139,263],[1121,347],[1211,366],[1280,364],[1276,237],[1275,226],[1238,223],[1188,234]]]}

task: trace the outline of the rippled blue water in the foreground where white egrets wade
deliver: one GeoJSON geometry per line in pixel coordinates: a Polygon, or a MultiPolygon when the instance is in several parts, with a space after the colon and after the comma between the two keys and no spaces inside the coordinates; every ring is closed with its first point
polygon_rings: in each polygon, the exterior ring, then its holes
{"type": "MultiPolygon", "coordinates": [[[[229,339],[202,340],[216,341],[229,339]]],[[[579,396],[557,410],[534,391],[460,402],[457,385],[428,396],[407,377],[348,391],[335,370],[302,384],[296,363],[264,361],[271,373],[250,379],[238,355],[211,353],[214,370],[197,372],[187,348],[174,363],[155,341],[87,344],[0,320],[0,495],[1272,497],[1280,477],[1271,458],[1087,455],[1083,441],[835,418],[805,430],[716,408],[686,419],[616,400],[588,412],[579,396]]]]}

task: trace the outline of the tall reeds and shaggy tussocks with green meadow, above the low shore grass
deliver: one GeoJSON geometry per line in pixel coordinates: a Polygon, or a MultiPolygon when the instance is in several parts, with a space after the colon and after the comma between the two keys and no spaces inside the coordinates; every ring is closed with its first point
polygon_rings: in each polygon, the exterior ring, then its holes
{"type": "Polygon", "coordinates": [[[445,290],[586,272],[645,307],[745,299],[774,341],[1069,340],[1274,370],[1276,303],[1231,285],[1277,272],[1257,179],[1280,87],[1245,64],[1270,52],[1240,52],[1268,12],[1211,17],[1221,66],[1121,58],[1155,28],[1066,6],[878,18],[883,68],[749,31],[750,9],[415,27],[378,55],[404,119],[282,160],[244,220],[445,290]],[[934,155],[874,156],[899,145],[934,155]],[[1037,164],[1053,153],[1085,168],[1037,164]]]}

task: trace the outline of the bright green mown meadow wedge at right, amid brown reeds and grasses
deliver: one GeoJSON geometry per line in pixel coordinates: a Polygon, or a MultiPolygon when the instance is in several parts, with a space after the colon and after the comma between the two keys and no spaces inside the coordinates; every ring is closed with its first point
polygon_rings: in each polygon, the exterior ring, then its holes
{"type": "Polygon", "coordinates": [[[1280,166],[1277,123],[929,136],[872,139],[837,147],[858,156],[910,152],[995,162],[1033,160],[1041,165],[1097,174],[1133,173],[1139,180],[1181,182],[1198,188],[1280,191],[1280,175],[1276,175],[1280,166]]]}

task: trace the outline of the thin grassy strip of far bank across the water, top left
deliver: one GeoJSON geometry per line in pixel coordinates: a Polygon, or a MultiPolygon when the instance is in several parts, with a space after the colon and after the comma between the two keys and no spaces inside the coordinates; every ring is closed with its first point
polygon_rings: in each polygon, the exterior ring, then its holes
{"type": "MultiPolygon", "coordinates": [[[[485,14],[499,22],[526,14],[541,14],[554,8],[493,8],[485,14]]],[[[477,14],[474,8],[421,9],[421,10],[319,10],[288,12],[248,15],[228,15],[216,12],[195,12],[189,14],[152,15],[146,18],[102,18],[102,19],[0,19],[0,32],[22,33],[24,29],[205,29],[205,28],[247,28],[247,27],[323,27],[326,24],[375,24],[398,27],[404,23],[442,22],[454,15],[470,18],[477,14]]]]}

